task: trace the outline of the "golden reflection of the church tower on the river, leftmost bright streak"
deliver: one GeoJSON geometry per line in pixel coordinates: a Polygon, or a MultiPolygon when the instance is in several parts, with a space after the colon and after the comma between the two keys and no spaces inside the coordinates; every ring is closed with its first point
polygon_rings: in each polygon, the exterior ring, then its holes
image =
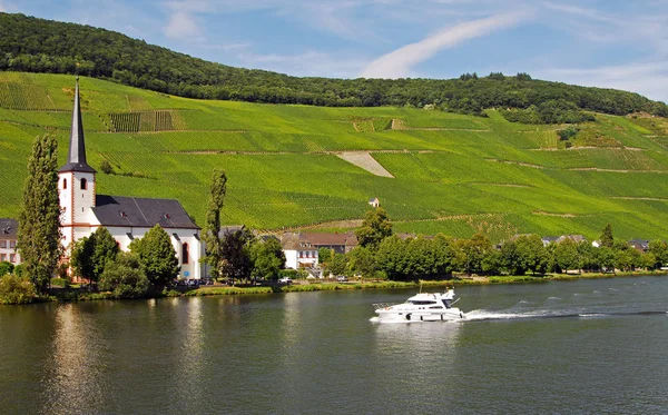
{"type": "Polygon", "coordinates": [[[43,385],[42,413],[101,412],[106,369],[99,352],[104,346],[90,315],[77,304],[56,309],[56,334],[43,385]]]}

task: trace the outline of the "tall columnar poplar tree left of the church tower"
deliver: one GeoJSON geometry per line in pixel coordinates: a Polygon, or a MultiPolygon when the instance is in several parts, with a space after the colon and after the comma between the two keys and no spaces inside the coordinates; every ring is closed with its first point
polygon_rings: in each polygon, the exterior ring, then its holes
{"type": "Polygon", "coordinates": [[[23,185],[17,248],[29,278],[42,293],[62,251],[57,164],[56,138],[49,135],[37,137],[23,185]]]}

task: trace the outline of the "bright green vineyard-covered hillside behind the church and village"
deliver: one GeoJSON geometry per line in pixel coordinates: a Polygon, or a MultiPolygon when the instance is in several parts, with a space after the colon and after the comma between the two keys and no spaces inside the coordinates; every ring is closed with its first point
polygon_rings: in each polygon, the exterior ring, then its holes
{"type": "MultiPolygon", "coordinates": [[[[0,72],[0,217],[18,216],[35,136],[56,134],[65,162],[73,81],[0,72]]],[[[402,231],[596,238],[611,223],[620,237],[667,237],[668,128],[658,119],[598,116],[581,126],[583,147],[566,150],[557,127],[513,125],[494,111],[198,101],[89,78],[81,99],[89,162],[135,175],[99,174],[98,191],[177,198],[200,225],[210,171],[222,168],[225,221],[256,228],[360,219],[377,196],[402,231]],[[151,130],[156,110],[169,113],[171,131],[108,132],[127,128],[119,120],[130,111],[144,111],[137,126],[151,130]],[[392,119],[407,129],[390,129],[392,119]],[[333,154],[351,150],[371,151],[395,178],[333,154]]]]}

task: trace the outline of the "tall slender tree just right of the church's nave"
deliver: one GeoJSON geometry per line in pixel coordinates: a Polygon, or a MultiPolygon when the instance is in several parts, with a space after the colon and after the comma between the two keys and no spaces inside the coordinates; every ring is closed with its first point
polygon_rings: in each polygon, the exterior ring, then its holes
{"type": "Polygon", "coordinates": [[[214,278],[222,277],[224,267],[223,244],[220,240],[220,210],[227,192],[227,176],[225,171],[214,170],[212,174],[212,185],[209,187],[208,210],[206,211],[206,226],[204,229],[204,241],[206,253],[203,260],[212,269],[214,278]]]}

